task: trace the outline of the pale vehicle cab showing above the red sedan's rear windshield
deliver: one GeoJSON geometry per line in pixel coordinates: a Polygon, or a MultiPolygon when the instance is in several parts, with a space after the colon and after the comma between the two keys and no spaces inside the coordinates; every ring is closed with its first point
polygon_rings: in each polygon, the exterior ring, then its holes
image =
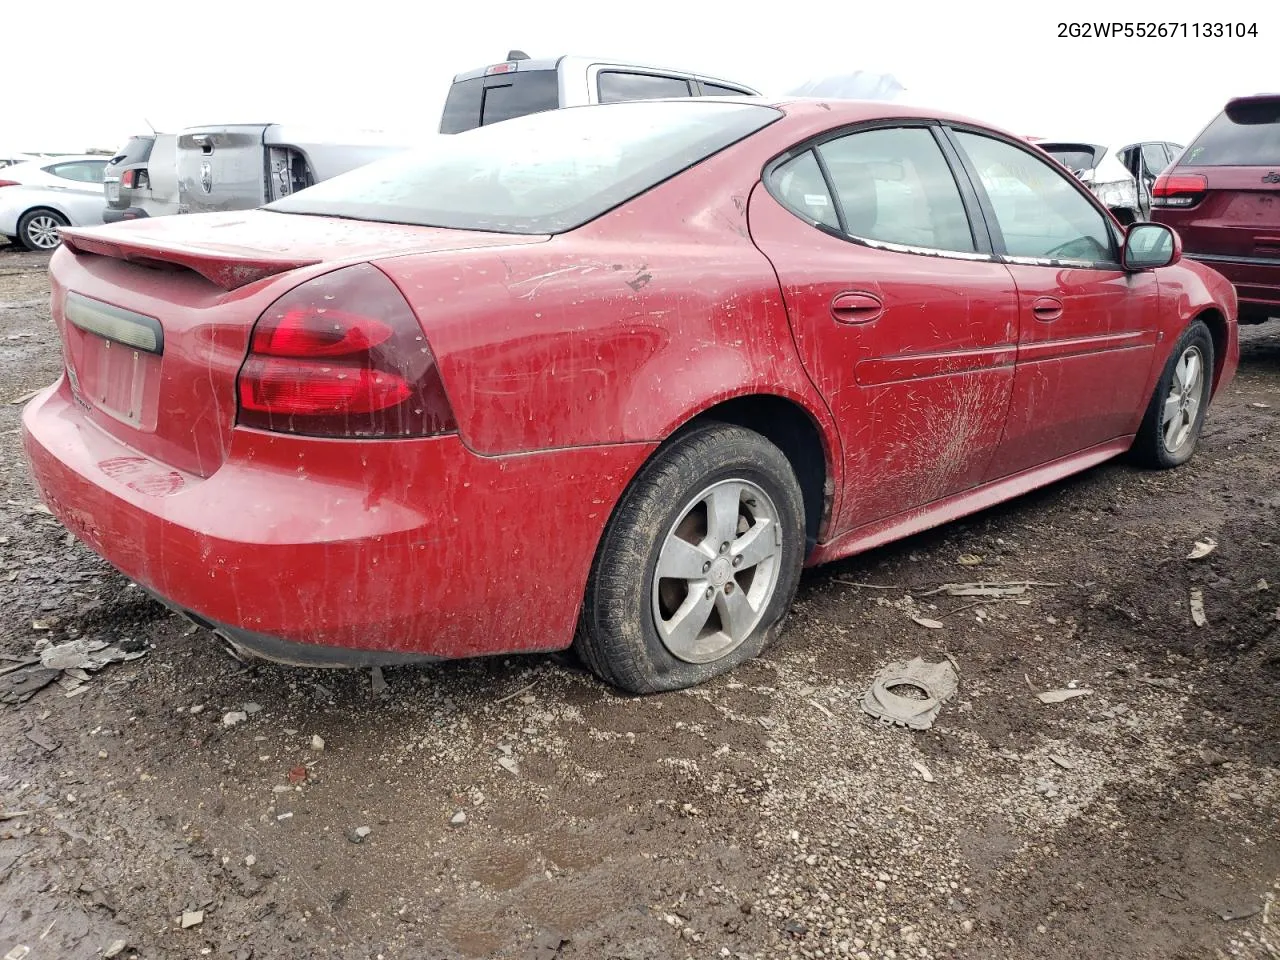
{"type": "Polygon", "coordinates": [[[462,133],[513,116],[586,104],[664,97],[760,96],[750,87],[686,70],[590,56],[532,60],[520,50],[503,63],[453,78],[440,133],[462,133]]]}

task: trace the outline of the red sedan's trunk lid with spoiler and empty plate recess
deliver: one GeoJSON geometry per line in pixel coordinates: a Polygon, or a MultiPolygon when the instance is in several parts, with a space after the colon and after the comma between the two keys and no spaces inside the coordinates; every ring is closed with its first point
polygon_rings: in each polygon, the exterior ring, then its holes
{"type": "Polygon", "coordinates": [[[50,262],[67,379],[101,430],[209,476],[230,447],[253,323],[285,291],[381,256],[545,239],[266,211],[68,230],[50,262]]]}

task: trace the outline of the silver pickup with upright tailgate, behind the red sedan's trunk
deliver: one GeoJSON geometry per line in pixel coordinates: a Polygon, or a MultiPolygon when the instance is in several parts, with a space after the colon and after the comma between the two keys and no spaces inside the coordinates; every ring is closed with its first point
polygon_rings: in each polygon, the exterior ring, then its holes
{"type": "Polygon", "coordinates": [[[408,146],[279,123],[191,127],[178,134],[178,212],[251,210],[408,146]]]}

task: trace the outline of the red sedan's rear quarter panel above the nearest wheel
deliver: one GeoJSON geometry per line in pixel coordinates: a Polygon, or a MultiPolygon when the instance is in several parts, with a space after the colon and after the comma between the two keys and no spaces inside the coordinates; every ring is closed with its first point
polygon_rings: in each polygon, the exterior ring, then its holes
{"type": "Polygon", "coordinates": [[[833,436],[748,234],[769,152],[730,148],[547,243],[379,261],[428,333],[466,443],[660,440],[751,393],[795,401],[833,436]]]}

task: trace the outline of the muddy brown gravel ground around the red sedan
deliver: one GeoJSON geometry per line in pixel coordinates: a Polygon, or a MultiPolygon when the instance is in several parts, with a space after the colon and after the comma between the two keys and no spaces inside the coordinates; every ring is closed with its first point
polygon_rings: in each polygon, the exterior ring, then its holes
{"type": "Polygon", "coordinates": [[[0,955],[1280,956],[1280,323],[1187,467],[810,571],[764,659],[631,699],[568,657],[248,666],[145,599],[27,477],[46,261],[0,246],[0,955]],[[974,580],[1037,585],[928,593],[974,580]],[[23,700],[74,637],[145,655],[23,700]],[[960,692],[879,726],[916,655],[960,692]]]}

